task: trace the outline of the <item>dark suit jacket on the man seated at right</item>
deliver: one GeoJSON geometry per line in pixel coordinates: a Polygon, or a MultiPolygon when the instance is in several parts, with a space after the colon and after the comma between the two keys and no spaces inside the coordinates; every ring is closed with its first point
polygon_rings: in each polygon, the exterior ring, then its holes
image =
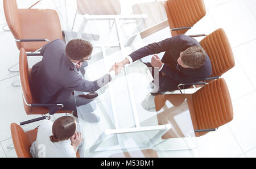
{"type": "Polygon", "coordinates": [[[197,69],[184,68],[177,65],[177,59],[180,57],[180,52],[183,52],[185,49],[193,46],[200,46],[200,44],[192,37],[181,34],[160,41],[159,43],[149,44],[146,47],[131,53],[130,57],[133,61],[136,61],[150,54],[166,52],[164,57],[170,57],[174,62],[174,66],[172,67],[164,64],[161,72],[167,74],[169,77],[174,79],[174,81],[180,83],[199,82],[210,77],[212,74],[212,65],[208,55],[205,64],[197,69]]]}

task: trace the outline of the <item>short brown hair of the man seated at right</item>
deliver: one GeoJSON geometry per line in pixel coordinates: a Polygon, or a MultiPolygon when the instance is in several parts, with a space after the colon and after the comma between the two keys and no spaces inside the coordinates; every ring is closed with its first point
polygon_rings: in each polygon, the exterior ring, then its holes
{"type": "Polygon", "coordinates": [[[206,60],[205,50],[200,46],[194,46],[181,53],[181,61],[184,65],[199,68],[204,65],[206,60]]]}

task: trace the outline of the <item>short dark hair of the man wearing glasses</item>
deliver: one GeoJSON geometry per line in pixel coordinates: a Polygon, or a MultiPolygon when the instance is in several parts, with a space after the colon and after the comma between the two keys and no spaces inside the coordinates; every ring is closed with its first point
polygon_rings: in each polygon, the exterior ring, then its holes
{"type": "Polygon", "coordinates": [[[69,41],[65,52],[70,59],[82,60],[92,54],[93,46],[88,41],[73,39],[69,41]]]}

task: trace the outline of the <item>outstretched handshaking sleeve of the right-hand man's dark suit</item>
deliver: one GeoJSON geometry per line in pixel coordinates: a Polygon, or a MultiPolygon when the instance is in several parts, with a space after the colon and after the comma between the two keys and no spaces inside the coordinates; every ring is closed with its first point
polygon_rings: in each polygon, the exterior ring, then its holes
{"type": "Polygon", "coordinates": [[[180,35],[159,41],[158,43],[149,44],[129,54],[129,56],[132,58],[134,62],[150,54],[165,52],[167,50],[175,48],[175,45],[178,43],[180,39],[179,37],[180,35]]]}

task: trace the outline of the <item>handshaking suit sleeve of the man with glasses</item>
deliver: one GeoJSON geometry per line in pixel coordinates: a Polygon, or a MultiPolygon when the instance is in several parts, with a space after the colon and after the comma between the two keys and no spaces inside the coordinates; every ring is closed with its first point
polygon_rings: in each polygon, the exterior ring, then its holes
{"type": "Polygon", "coordinates": [[[96,81],[87,81],[82,78],[81,75],[77,74],[73,77],[72,81],[69,80],[68,83],[65,84],[65,87],[75,91],[95,92],[110,81],[112,81],[110,74],[105,74],[96,81]]]}

